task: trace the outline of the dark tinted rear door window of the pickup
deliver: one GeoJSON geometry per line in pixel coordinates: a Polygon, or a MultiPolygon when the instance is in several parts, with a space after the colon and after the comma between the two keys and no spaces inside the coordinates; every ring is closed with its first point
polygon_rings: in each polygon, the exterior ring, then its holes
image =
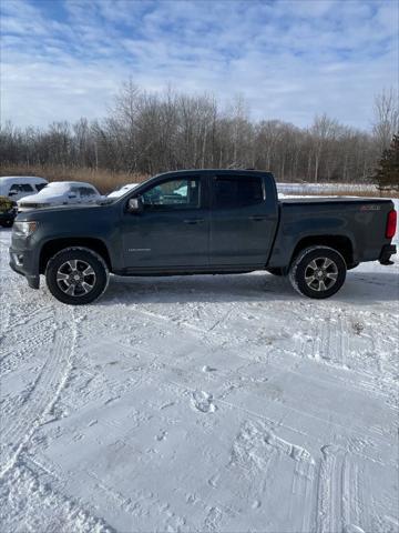
{"type": "Polygon", "coordinates": [[[214,182],[216,209],[242,208],[264,201],[262,179],[246,175],[218,175],[214,182]]]}

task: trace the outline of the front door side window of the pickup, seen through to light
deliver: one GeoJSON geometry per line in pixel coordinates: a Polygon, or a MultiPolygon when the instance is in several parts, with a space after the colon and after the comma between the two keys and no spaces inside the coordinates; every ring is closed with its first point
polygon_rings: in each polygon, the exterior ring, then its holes
{"type": "Polygon", "coordinates": [[[200,190],[200,178],[170,180],[145,191],[142,201],[145,210],[198,209],[200,190]]]}

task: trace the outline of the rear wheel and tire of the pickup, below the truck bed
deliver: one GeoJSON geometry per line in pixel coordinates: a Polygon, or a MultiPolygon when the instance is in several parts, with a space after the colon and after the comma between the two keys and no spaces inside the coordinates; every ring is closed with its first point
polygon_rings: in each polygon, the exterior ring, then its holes
{"type": "Polygon", "coordinates": [[[289,270],[289,281],[304,296],[325,299],[339,291],[346,279],[347,265],[332,248],[315,245],[300,251],[289,270]]]}

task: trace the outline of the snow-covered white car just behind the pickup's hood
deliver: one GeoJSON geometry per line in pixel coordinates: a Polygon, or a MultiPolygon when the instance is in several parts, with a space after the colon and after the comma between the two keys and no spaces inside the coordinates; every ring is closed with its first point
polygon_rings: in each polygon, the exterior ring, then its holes
{"type": "Polygon", "coordinates": [[[53,181],[44,187],[38,194],[19,200],[18,211],[31,209],[52,208],[70,203],[92,203],[101,200],[102,195],[90,183],[82,181],[53,181]]]}

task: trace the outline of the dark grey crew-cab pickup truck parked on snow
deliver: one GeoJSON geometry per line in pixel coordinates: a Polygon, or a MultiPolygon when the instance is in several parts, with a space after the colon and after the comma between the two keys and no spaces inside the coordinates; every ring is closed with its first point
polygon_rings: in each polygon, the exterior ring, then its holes
{"type": "Polygon", "coordinates": [[[362,261],[391,264],[393,202],[278,200],[269,172],[167,172],[91,205],[18,215],[11,268],[61,302],[86,304],[117,275],[288,275],[303,295],[335,294],[362,261]]]}

